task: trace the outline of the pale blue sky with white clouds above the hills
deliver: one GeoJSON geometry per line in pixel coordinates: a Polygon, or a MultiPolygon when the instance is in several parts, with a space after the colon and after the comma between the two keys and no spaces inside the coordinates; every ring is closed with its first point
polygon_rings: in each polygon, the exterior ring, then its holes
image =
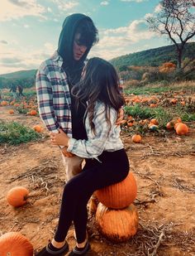
{"type": "Polygon", "coordinates": [[[88,57],[106,60],[169,45],[149,31],[145,17],[159,11],[157,0],[1,0],[0,74],[37,69],[56,50],[64,18],[81,12],[98,27],[88,57]]]}

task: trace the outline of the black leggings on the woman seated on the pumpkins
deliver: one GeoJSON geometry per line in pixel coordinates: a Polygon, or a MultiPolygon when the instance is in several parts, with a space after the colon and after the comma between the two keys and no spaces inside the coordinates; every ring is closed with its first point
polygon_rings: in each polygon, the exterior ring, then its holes
{"type": "Polygon", "coordinates": [[[96,159],[86,159],[83,171],[64,186],[55,241],[64,241],[74,221],[77,242],[83,243],[86,239],[88,220],[87,204],[93,192],[122,181],[128,175],[129,161],[124,149],[102,152],[98,159],[101,162],[96,159]]]}

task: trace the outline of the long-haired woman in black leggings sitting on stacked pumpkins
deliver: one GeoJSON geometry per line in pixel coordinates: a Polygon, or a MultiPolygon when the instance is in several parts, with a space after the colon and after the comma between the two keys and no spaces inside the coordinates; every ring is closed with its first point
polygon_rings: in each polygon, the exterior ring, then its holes
{"type": "Polygon", "coordinates": [[[77,244],[69,255],[84,255],[90,249],[86,226],[87,204],[93,192],[126,178],[129,162],[116,125],[117,112],[124,104],[114,67],[100,58],[88,60],[82,80],[72,93],[79,103],[87,102],[84,123],[87,139],[69,138],[62,130],[51,133],[53,145],[64,145],[68,152],[83,157],[83,171],[64,186],[59,224],[51,243],[38,254],[64,255],[69,250],[65,238],[74,221],[77,244]],[[55,253],[54,253],[55,252],[55,253]]]}

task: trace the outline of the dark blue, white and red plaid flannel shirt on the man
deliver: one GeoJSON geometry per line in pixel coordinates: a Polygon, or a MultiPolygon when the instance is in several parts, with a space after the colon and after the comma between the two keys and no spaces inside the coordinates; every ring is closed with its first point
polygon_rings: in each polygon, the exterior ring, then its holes
{"type": "Polygon", "coordinates": [[[36,94],[40,118],[49,131],[72,137],[71,99],[67,76],[62,69],[63,59],[58,52],[45,60],[36,74],[36,94]]]}

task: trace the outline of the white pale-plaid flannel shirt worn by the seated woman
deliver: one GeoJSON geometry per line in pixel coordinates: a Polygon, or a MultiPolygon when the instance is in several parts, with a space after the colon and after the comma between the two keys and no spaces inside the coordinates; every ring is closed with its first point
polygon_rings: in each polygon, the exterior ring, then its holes
{"type": "Polygon", "coordinates": [[[94,109],[93,123],[95,126],[95,134],[89,125],[88,115],[85,119],[85,128],[88,134],[88,140],[69,139],[68,152],[72,152],[78,157],[96,158],[103,151],[113,152],[123,148],[121,142],[120,125],[116,125],[117,111],[110,109],[111,128],[106,120],[105,105],[97,102],[94,109]]]}

